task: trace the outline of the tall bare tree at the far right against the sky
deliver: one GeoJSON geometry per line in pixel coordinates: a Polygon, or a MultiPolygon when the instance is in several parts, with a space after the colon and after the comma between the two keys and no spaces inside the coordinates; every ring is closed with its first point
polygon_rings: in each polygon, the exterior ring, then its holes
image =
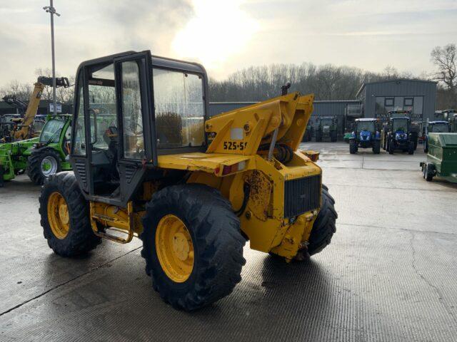
{"type": "Polygon", "coordinates": [[[434,75],[435,80],[443,83],[448,90],[455,93],[457,88],[456,44],[433,48],[431,61],[437,68],[434,75]]]}

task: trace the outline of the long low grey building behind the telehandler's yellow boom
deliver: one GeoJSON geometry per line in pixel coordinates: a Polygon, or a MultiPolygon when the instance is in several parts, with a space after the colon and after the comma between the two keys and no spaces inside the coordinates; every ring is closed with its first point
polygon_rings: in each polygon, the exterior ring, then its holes
{"type": "MultiPolygon", "coordinates": [[[[252,105],[256,102],[211,102],[209,103],[209,115],[217,115],[229,110],[252,105]]],[[[318,118],[323,116],[336,116],[338,118],[338,135],[343,135],[346,125],[346,115],[360,117],[360,100],[330,100],[314,101],[314,110],[311,114],[310,123],[314,128],[318,125],[318,118]]]]}

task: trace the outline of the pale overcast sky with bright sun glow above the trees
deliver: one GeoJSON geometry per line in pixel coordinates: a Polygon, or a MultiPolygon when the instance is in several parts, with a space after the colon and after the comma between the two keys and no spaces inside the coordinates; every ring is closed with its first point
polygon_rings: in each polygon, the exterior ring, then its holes
{"type": "MultiPolygon", "coordinates": [[[[0,4],[0,86],[51,67],[49,1],[0,4]]],[[[56,68],[128,50],[200,61],[224,78],[252,65],[332,63],[430,72],[456,43],[456,0],[55,0],[56,68]]]]}

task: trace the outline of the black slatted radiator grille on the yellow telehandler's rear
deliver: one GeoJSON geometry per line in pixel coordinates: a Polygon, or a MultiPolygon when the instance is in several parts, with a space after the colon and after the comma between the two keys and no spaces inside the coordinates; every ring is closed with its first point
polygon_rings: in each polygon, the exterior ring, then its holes
{"type": "Polygon", "coordinates": [[[284,217],[291,218],[321,206],[321,175],[286,180],[284,217]]]}

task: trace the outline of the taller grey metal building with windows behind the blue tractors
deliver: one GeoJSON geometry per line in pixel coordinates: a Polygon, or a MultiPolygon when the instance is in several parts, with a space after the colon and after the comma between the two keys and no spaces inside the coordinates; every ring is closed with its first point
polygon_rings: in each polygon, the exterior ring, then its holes
{"type": "Polygon", "coordinates": [[[436,82],[396,79],[364,83],[356,95],[365,118],[386,118],[389,110],[412,110],[414,121],[433,120],[436,82]]]}

